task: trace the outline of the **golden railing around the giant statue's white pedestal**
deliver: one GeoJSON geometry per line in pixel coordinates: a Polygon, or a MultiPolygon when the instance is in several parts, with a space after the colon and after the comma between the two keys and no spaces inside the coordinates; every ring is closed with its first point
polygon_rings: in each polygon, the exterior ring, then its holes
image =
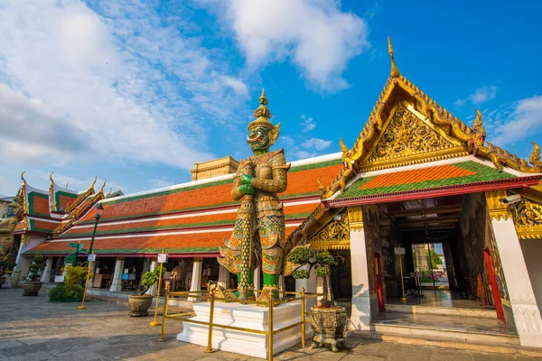
{"type": "MultiPolygon", "coordinates": [[[[210,286],[208,286],[208,290],[210,289],[210,286]]],[[[236,290],[227,290],[227,292],[236,292],[238,291],[237,289],[236,290]]],[[[220,329],[233,329],[233,330],[236,330],[236,331],[243,331],[243,332],[249,332],[249,333],[257,333],[257,334],[260,334],[260,335],[266,335],[267,338],[268,338],[268,354],[267,354],[267,360],[268,361],[272,361],[273,360],[273,336],[276,335],[277,333],[279,332],[283,332],[285,331],[286,329],[293,329],[294,327],[296,326],[299,326],[301,325],[301,333],[302,333],[302,336],[301,336],[301,346],[302,347],[305,347],[305,341],[306,341],[306,336],[305,336],[305,329],[306,329],[306,323],[309,321],[309,319],[307,319],[307,312],[305,310],[305,301],[308,300],[308,299],[313,299],[313,298],[316,298],[316,297],[320,297],[320,296],[323,296],[323,293],[306,293],[304,292],[304,288],[302,287],[301,289],[301,292],[285,292],[285,291],[279,291],[279,296],[280,296],[280,301],[276,301],[274,300],[274,297],[270,297],[268,301],[264,302],[264,301],[249,301],[249,300],[232,300],[230,298],[221,298],[221,297],[216,297],[215,296],[215,292],[216,292],[216,289],[212,290],[209,294],[209,291],[207,290],[203,290],[203,291],[187,291],[187,292],[170,292],[169,291],[169,287],[166,288],[165,290],[165,300],[164,300],[164,314],[163,314],[163,318],[162,318],[162,334],[160,335],[160,341],[166,341],[166,338],[165,338],[165,321],[167,319],[172,319],[172,320],[177,320],[177,321],[182,321],[182,322],[189,322],[189,323],[195,323],[195,324],[198,324],[198,325],[206,325],[209,327],[209,335],[208,335],[208,342],[207,342],[207,349],[205,350],[205,352],[214,352],[215,350],[212,349],[212,329],[213,327],[219,327],[220,329]],[[294,296],[294,297],[290,297],[290,298],[287,298],[286,296],[294,296]],[[297,297],[299,296],[299,297],[297,297]],[[188,297],[191,297],[192,299],[200,299],[200,300],[205,300],[205,301],[209,301],[210,302],[210,315],[209,315],[209,322],[204,322],[204,321],[200,321],[200,320],[195,320],[195,319],[191,319],[192,317],[194,317],[196,314],[194,311],[184,311],[184,312],[180,312],[180,313],[173,313],[173,314],[168,314],[167,313],[167,304],[168,304],[168,301],[172,300],[173,298],[188,298],[188,297]],[[268,328],[267,330],[261,330],[261,329],[245,329],[245,328],[239,328],[239,327],[235,327],[235,326],[229,326],[229,325],[221,325],[221,324],[216,324],[213,322],[213,313],[214,313],[214,305],[215,305],[215,302],[226,302],[226,303],[231,303],[231,302],[234,302],[234,303],[240,303],[240,304],[243,304],[243,305],[247,305],[247,304],[254,304],[254,305],[258,305],[258,306],[263,306],[263,307],[267,307],[269,312],[268,312],[268,328]],[[300,312],[301,312],[301,321],[299,322],[296,322],[292,325],[289,325],[289,326],[286,326],[282,329],[274,329],[273,328],[273,308],[280,305],[280,304],[283,304],[283,303],[290,303],[290,302],[295,302],[295,301],[301,301],[301,305],[300,305],[300,312]]],[[[262,292],[261,290],[255,290],[254,292],[262,292]]],[[[271,292],[273,293],[273,292],[271,292]]],[[[271,296],[273,296],[273,294],[271,294],[271,296]]]]}

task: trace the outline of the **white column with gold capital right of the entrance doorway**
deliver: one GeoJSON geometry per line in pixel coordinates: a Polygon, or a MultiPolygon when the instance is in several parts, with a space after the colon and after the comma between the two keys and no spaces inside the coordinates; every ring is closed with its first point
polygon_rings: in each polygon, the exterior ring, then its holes
{"type": "Polygon", "coordinates": [[[521,346],[542,347],[542,319],[518,233],[509,208],[499,201],[506,196],[506,191],[486,192],[493,235],[499,249],[519,343],[521,346]]]}

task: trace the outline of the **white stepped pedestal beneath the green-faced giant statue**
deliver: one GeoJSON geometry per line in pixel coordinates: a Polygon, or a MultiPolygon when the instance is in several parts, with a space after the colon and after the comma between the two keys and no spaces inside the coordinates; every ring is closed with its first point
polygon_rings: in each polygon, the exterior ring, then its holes
{"type": "MultiPolygon", "coordinates": [[[[210,303],[195,303],[194,320],[209,322],[210,303]]],[[[238,303],[215,303],[212,329],[212,347],[237,354],[266,358],[268,339],[266,335],[222,329],[217,325],[235,326],[238,328],[267,330],[269,310],[256,305],[240,305],[238,303]]],[[[276,306],[273,309],[273,329],[282,329],[301,320],[301,302],[291,302],[276,306]]],[[[182,333],[177,335],[179,341],[207,346],[209,328],[183,322],[182,333]]],[[[311,324],[306,323],[306,337],[313,336],[311,324]]],[[[301,325],[286,329],[273,336],[273,355],[301,343],[301,325]]]]}

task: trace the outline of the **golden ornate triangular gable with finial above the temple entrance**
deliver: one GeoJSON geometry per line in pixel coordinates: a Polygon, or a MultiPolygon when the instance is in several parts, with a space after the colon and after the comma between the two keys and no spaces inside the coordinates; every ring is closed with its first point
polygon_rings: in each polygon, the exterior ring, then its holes
{"type": "Polygon", "coordinates": [[[329,186],[320,184],[322,199],[344,190],[346,182],[360,171],[433,162],[467,154],[491,160],[499,171],[507,166],[526,173],[542,172],[540,148],[536,143],[533,143],[533,153],[529,157],[531,165],[500,147],[486,143],[479,110],[475,110],[472,128],[465,125],[399,73],[389,39],[388,46],[392,64],[388,81],[352,148],[349,149],[341,139],[343,168],[329,186]],[[415,127],[408,129],[406,124],[414,124],[415,127]],[[394,130],[400,134],[394,134],[394,130]],[[429,144],[423,144],[425,142],[429,144]]]}

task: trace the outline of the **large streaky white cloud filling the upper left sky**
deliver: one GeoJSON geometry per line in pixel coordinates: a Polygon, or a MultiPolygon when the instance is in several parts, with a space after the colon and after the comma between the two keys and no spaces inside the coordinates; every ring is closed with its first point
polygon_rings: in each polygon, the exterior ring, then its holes
{"type": "Polygon", "coordinates": [[[173,16],[131,0],[91,4],[0,7],[0,158],[63,163],[92,153],[191,169],[212,157],[207,119],[230,118],[244,82],[173,16]]]}

